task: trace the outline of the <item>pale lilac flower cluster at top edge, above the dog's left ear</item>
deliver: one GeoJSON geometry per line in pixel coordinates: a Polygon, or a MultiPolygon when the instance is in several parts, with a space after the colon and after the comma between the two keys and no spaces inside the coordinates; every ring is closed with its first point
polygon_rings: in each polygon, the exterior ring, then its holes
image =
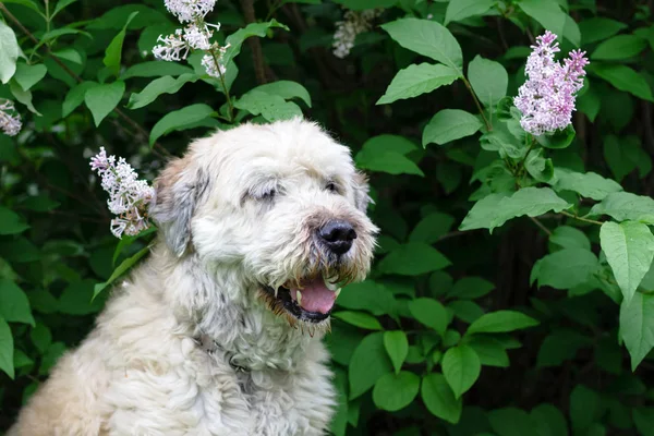
{"type": "Polygon", "coordinates": [[[207,13],[214,10],[216,0],[165,0],[166,8],[180,23],[187,23],[184,28],[178,28],[174,34],[159,35],[158,43],[153,48],[156,59],[165,61],[181,61],[186,59],[191,50],[205,51],[202,65],[207,74],[220,77],[226,72],[226,65],[221,59],[229,48],[229,44],[220,47],[217,43],[211,44],[214,32],[220,29],[220,23],[209,24],[205,22],[207,13]],[[215,28],[215,31],[213,29],[215,28]]]}

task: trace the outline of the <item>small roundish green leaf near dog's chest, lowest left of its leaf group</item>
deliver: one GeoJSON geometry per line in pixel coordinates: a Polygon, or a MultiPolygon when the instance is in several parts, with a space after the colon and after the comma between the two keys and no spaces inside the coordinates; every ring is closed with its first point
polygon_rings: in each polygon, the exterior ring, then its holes
{"type": "Polygon", "coordinates": [[[411,404],[420,390],[420,377],[408,371],[384,374],[373,389],[373,401],[382,410],[397,412],[411,404]]]}

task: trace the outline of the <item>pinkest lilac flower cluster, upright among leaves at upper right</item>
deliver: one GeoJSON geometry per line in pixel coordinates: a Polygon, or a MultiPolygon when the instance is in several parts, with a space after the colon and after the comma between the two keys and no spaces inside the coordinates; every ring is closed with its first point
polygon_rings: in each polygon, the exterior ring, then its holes
{"type": "Polygon", "coordinates": [[[557,36],[547,31],[536,38],[536,45],[526,60],[526,82],[513,99],[522,112],[520,124],[526,132],[538,136],[566,129],[572,122],[574,98],[583,87],[585,52],[570,52],[564,63],[554,60],[559,50],[557,36]]]}

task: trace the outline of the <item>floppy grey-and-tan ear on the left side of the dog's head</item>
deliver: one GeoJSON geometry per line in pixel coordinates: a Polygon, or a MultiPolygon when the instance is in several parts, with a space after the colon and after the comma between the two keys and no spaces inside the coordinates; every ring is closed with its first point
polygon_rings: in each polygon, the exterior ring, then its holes
{"type": "Polygon", "coordinates": [[[178,257],[191,242],[191,218],[207,184],[205,172],[193,165],[190,156],[171,160],[155,180],[150,217],[178,257]]]}

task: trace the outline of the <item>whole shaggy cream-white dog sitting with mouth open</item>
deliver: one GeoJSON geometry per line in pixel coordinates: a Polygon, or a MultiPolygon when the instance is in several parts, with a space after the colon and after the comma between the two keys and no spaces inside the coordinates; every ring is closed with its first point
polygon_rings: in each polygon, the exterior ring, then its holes
{"type": "Polygon", "coordinates": [[[349,149],[300,119],[194,142],[155,183],[160,241],[11,435],[319,435],[320,338],[375,226],[349,149]]]}

